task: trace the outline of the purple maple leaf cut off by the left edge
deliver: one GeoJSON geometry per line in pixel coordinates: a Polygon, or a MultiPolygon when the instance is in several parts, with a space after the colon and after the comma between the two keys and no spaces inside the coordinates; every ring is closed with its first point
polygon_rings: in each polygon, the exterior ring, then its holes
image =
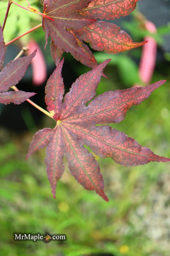
{"type": "MultiPolygon", "coordinates": [[[[26,93],[25,91],[8,91],[11,86],[16,85],[24,76],[28,65],[35,56],[36,50],[26,56],[9,62],[0,72],[0,103],[20,104],[35,93],[26,93]]],[[[5,43],[3,39],[2,29],[0,27],[0,67],[3,66],[5,55],[5,43]]]]}

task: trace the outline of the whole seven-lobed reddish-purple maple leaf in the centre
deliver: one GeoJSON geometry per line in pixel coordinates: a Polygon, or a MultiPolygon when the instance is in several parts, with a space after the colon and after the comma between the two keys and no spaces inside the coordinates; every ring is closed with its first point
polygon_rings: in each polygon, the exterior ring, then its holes
{"type": "Polygon", "coordinates": [[[81,75],[72,84],[63,102],[63,60],[48,79],[45,101],[48,111],[56,120],[56,127],[44,128],[35,133],[26,158],[47,146],[45,163],[54,198],[56,182],[64,171],[63,156],[66,155],[68,167],[76,180],[84,188],[95,190],[108,201],[103,191],[104,183],[98,162],[83,144],[91,147],[96,155],[111,157],[116,163],[124,166],[143,165],[150,161],[170,161],[169,158],[159,157],[149,148],[142,147],[123,132],[107,125],[95,126],[122,121],[131,105],[140,104],[152,91],[165,83],[165,80],[162,80],[145,87],[107,91],[86,106],[86,103],[94,98],[103,68],[109,61],[106,60],[81,75]]]}

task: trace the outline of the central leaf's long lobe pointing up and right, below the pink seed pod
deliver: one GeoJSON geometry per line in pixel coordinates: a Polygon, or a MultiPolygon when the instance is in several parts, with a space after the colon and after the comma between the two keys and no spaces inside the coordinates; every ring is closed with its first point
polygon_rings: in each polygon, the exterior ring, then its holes
{"type": "Polygon", "coordinates": [[[79,123],[108,124],[122,121],[132,105],[139,105],[144,99],[166,80],[161,80],[145,87],[132,87],[125,90],[106,91],[91,101],[86,108],[75,113],[71,120],[79,123]]]}

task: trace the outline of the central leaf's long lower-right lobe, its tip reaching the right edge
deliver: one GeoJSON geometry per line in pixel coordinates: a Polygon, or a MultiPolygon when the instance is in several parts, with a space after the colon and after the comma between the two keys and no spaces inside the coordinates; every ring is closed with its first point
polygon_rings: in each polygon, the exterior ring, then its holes
{"type": "Polygon", "coordinates": [[[167,162],[169,158],[155,155],[149,148],[142,147],[133,138],[108,126],[90,127],[68,124],[68,131],[74,132],[77,139],[91,147],[100,157],[111,157],[123,166],[144,165],[151,161],[167,162]]]}

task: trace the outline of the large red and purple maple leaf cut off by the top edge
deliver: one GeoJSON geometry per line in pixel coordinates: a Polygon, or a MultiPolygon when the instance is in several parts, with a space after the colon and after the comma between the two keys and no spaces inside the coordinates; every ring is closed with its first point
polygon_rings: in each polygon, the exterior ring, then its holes
{"type": "Polygon", "coordinates": [[[96,19],[115,19],[130,14],[138,0],[45,0],[43,30],[51,36],[51,54],[56,65],[62,53],[70,52],[88,67],[97,65],[95,50],[119,53],[145,44],[135,43],[120,27],[96,19]],[[52,18],[50,20],[48,17],[52,18]],[[82,41],[83,40],[83,41],[82,41]]]}

